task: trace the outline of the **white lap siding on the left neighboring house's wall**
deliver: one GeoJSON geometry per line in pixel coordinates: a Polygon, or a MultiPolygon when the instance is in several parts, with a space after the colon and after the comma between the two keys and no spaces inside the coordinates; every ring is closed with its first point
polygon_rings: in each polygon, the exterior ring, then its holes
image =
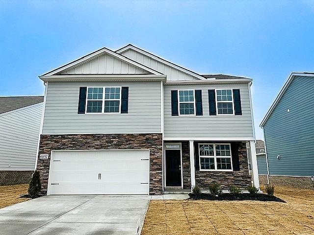
{"type": "Polygon", "coordinates": [[[0,115],[0,170],[34,170],[43,103],[0,115]]]}

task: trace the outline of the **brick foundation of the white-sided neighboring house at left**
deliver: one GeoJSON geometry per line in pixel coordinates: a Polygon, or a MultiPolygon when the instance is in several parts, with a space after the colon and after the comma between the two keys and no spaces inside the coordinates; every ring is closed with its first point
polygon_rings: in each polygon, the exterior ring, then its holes
{"type": "Polygon", "coordinates": [[[0,186],[28,184],[33,170],[1,170],[0,186]]]}

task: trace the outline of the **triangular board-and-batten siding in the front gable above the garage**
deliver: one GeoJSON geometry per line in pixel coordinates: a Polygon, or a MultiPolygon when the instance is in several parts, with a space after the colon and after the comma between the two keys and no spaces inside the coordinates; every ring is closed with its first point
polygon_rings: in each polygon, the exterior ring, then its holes
{"type": "Polygon", "coordinates": [[[134,65],[128,64],[112,55],[103,53],[96,57],[84,61],[61,74],[141,74],[150,73],[138,68],[134,65]]]}

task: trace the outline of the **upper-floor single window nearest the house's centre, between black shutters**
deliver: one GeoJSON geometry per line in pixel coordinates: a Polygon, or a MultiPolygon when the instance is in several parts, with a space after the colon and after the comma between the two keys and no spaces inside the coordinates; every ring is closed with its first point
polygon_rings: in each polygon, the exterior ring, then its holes
{"type": "Polygon", "coordinates": [[[179,115],[195,115],[194,90],[179,90],[179,115]]]}

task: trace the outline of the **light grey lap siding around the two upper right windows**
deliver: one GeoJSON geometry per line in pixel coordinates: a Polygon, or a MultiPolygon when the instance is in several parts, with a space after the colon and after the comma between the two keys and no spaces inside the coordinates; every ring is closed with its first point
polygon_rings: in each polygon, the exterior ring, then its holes
{"type": "Polygon", "coordinates": [[[164,87],[165,138],[253,139],[248,84],[166,85],[164,87]],[[209,116],[209,89],[240,89],[242,115],[209,116]],[[202,90],[203,116],[171,116],[171,90],[202,90]]]}

